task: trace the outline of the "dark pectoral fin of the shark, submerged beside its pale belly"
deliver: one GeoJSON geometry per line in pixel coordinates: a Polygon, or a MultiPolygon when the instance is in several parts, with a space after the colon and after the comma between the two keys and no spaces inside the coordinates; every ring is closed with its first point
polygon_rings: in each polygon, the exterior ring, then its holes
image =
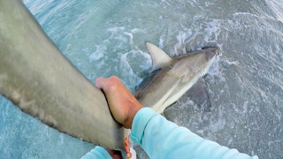
{"type": "Polygon", "coordinates": [[[208,94],[207,87],[203,83],[203,79],[198,79],[195,85],[189,89],[187,96],[190,97],[201,110],[210,112],[210,95],[208,94]]]}

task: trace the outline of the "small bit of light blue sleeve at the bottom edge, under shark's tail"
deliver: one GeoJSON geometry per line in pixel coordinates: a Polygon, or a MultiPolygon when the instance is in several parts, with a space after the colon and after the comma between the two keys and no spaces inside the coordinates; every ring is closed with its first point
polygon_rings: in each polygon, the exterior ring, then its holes
{"type": "Polygon", "coordinates": [[[96,146],[88,152],[88,154],[82,156],[80,159],[111,159],[111,155],[105,148],[96,146]]]}

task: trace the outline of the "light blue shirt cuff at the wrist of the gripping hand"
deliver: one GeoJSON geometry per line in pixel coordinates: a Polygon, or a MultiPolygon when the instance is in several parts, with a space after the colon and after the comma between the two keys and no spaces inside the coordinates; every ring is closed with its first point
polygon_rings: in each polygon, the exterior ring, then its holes
{"type": "Polygon", "coordinates": [[[134,116],[132,131],[130,134],[131,140],[141,144],[145,127],[148,125],[149,120],[156,115],[158,114],[148,107],[139,110],[134,116]]]}

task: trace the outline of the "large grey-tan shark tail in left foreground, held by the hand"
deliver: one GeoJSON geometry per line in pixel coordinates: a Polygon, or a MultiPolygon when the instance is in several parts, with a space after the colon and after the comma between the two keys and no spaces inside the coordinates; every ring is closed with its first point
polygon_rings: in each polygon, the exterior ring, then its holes
{"type": "Polygon", "coordinates": [[[20,0],[0,0],[0,94],[59,132],[125,149],[126,131],[111,117],[102,91],[63,56],[20,0]]]}

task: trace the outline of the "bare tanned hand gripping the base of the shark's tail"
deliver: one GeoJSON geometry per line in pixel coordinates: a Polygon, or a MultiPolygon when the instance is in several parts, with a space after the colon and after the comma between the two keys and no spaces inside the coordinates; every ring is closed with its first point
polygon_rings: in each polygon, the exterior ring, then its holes
{"type": "Polygon", "coordinates": [[[143,108],[142,104],[134,98],[134,95],[116,76],[109,79],[96,79],[96,87],[103,90],[115,120],[125,128],[131,129],[136,112],[143,108]]]}

